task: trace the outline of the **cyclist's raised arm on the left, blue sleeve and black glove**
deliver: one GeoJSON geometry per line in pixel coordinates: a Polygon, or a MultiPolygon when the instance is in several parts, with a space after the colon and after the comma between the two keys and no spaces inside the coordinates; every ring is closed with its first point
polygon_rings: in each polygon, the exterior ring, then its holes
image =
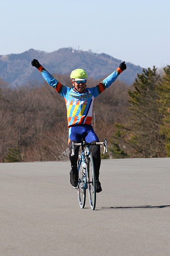
{"type": "Polygon", "coordinates": [[[67,92],[70,90],[69,87],[64,86],[63,84],[61,84],[56,78],[54,78],[41,64],[39,64],[38,60],[33,59],[31,61],[31,65],[34,66],[35,68],[37,68],[43,78],[47,81],[47,83],[50,86],[53,86],[53,88],[55,88],[55,90],[61,94],[61,96],[65,96],[67,94],[67,92]]]}

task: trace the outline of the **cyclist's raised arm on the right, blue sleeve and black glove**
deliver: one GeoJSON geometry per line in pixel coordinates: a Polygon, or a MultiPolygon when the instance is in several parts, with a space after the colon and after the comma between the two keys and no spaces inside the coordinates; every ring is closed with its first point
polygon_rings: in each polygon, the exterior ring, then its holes
{"type": "Polygon", "coordinates": [[[117,68],[113,73],[111,73],[109,76],[107,76],[101,83],[99,83],[97,86],[90,88],[92,90],[93,96],[97,97],[100,93],[104,92],[106,88],[111,86],[113,82],[117,79],[119,74],[123,72],[123,70],[126,69],[126,64],[125,61],[123,61],[120,65],[119,68],[117,68]]]}

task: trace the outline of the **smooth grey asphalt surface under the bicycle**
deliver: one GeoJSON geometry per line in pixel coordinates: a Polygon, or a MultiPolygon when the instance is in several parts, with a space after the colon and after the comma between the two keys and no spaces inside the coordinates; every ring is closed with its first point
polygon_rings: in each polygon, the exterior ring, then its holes
{"type": "Polygon", "coordinates": [[[69,170],[0,163],[1,256],[170,255],[170,158],[102,160],[94,211],[69,170]]]}

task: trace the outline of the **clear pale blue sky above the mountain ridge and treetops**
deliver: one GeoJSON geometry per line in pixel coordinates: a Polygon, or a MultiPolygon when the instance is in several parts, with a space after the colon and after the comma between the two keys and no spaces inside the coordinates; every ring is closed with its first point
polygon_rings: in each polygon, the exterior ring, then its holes
{"type": "Polygon", "coordinates": [[[169,0],[1,0],[0,32],[0,55],[72,47],[143,68],[170,64],[169,0]]]}

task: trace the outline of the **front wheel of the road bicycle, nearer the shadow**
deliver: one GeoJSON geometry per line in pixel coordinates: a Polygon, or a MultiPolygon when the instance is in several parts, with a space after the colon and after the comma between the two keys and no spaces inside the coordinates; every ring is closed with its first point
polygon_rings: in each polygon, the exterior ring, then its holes
{"type": "Polygon", "coordinates": [[[90,207],[92,210],[95,209],[96,206],[96,178],[95,178],[95,171],[94,171],[94,163],[92,156],[89,155],[88,157],[88,196],[90,201],[90,207]]]}

